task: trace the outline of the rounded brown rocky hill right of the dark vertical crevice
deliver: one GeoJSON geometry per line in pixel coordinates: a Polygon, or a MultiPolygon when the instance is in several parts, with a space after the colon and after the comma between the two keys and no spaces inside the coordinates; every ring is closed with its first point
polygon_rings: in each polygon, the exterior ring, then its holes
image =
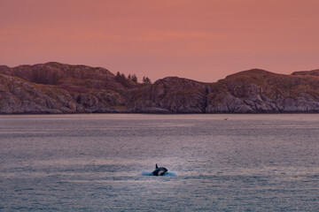
{"type": "Polygon", "coordinates": [[[206,113],[317,112],[319,78],[250,70],[211,85],[206,113]]]}

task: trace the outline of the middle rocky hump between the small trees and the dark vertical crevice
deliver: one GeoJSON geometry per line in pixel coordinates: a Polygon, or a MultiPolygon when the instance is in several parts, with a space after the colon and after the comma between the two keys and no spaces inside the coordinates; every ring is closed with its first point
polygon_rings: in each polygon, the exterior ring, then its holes
{"type": "Polygon", "coordinates": [[[128,93],[132,112],[204,113],[206,86],[191,79],[167,77],[128,93]]]}

